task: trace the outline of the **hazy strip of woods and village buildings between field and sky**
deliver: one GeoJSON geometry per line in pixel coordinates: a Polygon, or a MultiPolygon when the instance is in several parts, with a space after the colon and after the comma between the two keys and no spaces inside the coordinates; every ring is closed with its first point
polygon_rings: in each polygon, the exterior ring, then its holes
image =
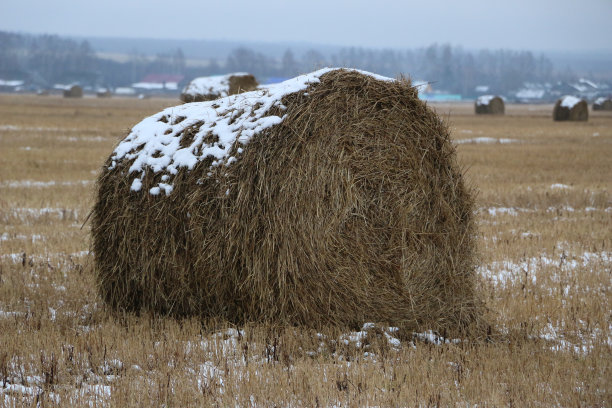
{"type": "Polygon", "coordinates": [[[350,67],[383,76],[410,77],[422,99],[473,101],[494,94],[511,103],[551,103],[564,95],[593,102],[612,95],[609,75],[555,71],[544,55],[529,51],[465,51],[433,44],[416,50],[343,48],[333,54],[309,50],[281,58],[249,48],[230,50],[225,60],[193,64],[181,49],[123,60],[96,54],[87,41],[0,31],[0,92],[176,97],[196,77],[248,72],[260,85],[282,82],[325,66],[350,67]],[[71,89],[79,89],[70,92],[71,89]]]}

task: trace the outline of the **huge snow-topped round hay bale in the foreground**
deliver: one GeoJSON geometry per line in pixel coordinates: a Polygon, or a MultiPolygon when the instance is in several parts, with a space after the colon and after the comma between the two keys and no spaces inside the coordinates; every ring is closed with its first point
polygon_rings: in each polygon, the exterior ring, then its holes
{"type": "Polygon", "coordinates": [[[480,322],[473,199],[405,80],[323,69],[168,108],[97,182],[93,248],[120,310],[309,326],[480,322]]]}

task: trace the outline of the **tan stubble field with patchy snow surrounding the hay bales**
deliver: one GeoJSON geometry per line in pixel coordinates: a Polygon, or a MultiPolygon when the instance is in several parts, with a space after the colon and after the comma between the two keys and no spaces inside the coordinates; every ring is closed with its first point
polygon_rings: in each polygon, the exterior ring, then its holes
{"type": "Polygon", "coordinates": [[[478,191],[478,342],[112,314],[88,252],[95,179],[176,104],[0,95],[0,406],[612,404],[612,112],[432,105],[478,191]]]}

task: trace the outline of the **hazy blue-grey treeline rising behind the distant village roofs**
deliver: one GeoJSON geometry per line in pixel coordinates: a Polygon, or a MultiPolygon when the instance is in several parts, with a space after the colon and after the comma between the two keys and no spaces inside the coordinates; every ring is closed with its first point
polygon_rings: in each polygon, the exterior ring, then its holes
{"type": "MultiPolygon", "coordinates": [[[[434,44],[414,50],[343,48],[324,55],[312,49],[294,55],[288,49],[281,59],[249,48],[232,50],[225,60],[190,66],[179,49],[151,58],[134,50],[126,60],[100,58],[87,41],[55,35],[25,35],[0,31],[0,78],[27,79],[45,87],[54,83],[81,82],[97,86],[125,86],[147,74],[196,76],[247,71],[258,78],[292,77],[324,66],[344,66],[395,77],[404,74],[433,83],[435,89],[470,95],[478,85],[506,93],[524,82],[560,79],[552,62],[529,51],[466,51],[434,44]]],[[[565,71],[565,77],[571,72],[565,71]]],[[[570,78],[563,78],[570,79],[570,78]]]]}

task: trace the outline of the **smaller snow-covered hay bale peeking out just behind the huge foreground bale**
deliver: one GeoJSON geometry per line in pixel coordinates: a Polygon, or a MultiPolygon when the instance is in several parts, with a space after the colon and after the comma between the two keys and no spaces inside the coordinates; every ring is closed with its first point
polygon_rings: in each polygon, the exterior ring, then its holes
{"type": "Polygon", "coordinates": [[[228,95],[253,91],[258,85],[255,77],[245,72],[200,77],[192,80],[183,89],[181,100],[183,102],[212,101],[228,95]]]}

